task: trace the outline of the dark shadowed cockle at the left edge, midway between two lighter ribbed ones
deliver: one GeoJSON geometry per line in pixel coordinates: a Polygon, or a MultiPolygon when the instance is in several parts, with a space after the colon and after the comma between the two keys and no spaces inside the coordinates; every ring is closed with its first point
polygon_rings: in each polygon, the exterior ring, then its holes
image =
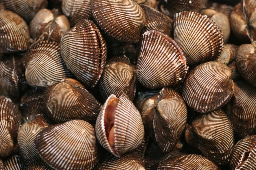
{"type": "Polygon", "coordinates": [[[3,55],[0,60],[0,84],[9,95],[19,98],[28,88],[22,57],[3,55]]]}

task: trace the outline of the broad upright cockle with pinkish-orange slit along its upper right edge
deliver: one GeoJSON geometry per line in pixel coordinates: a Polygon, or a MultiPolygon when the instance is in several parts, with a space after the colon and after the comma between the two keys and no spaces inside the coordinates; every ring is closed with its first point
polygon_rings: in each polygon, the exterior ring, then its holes
{"type": "Polygon", "coordinates": [[[183,83],[187,73],[186,58],[171,37],[157,30],[145,32],[137,51],[136,76],[144,87],[177,87],[183,83]]]}

